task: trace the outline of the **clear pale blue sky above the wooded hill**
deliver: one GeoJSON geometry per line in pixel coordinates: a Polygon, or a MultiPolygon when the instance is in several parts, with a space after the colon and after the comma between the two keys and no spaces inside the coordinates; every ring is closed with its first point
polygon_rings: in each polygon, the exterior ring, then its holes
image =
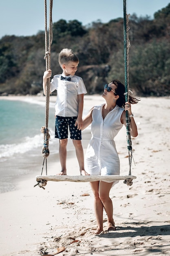
{"type": "MultiPolygon", "coordinates": [[[[47,13],[49,15],[49,0],[47,13]]],[[[127,13],[150,16],[166,7],[170,0],[127,0],[127,13]]],[[[82,25],[123,18],[123,0],[53,0],[52,20],[78,20],[82,25]]],[[[48,21],[48,18],[47,18],[48,21]]],[[[0,38],[5,35],[32,36],[44,31],[44,0],[1,0],[0,38]]]]}

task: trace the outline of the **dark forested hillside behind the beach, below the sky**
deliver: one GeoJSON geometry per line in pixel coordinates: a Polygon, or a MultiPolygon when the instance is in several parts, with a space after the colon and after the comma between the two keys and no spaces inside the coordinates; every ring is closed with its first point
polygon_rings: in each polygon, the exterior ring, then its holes
{"type": "MultiPolygon", "coordinates": [[[[139,96],[170,95],[170,4],[154,18],[129,18],[129,89],[139,96]]],[[[0,39],[0,95],[42,92],[44,31],[34,36],[4,36],[0,39]]],[[[123,18],[88,27],[78,20],[53,23],[51,45],[52,76],[61,74],[58,54],[71,48],[79,57],[76,75],[81,76],[88,94],[101,93],[105,83],[124,83],[123,18]]]]}

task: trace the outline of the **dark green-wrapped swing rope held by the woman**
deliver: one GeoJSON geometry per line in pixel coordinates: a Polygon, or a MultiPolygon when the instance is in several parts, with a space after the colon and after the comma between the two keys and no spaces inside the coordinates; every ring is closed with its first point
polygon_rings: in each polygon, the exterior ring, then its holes
{"type": "MultiPolygon", "coordinates": [[[[129,101],[129,48],[130,41],[128,38],[128,15],[127,15],[127,4],[124,0],[124,72],[125,72],[125,100],[129,101]]],[[[128,158],[129,158],[129,174],[131,175],[131,164],[132,164],[132,141],[130,136],[130,118],[128,110],[126,110],[126,140],[128,148],[128,158]]],[[[124,180],[124,184],[131,186],[133,184],[132,179],[124,180]]]]}

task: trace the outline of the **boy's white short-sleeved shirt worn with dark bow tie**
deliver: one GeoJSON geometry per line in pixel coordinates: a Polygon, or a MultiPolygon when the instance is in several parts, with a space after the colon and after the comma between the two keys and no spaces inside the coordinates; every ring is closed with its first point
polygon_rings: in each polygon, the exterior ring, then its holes
{"type": "Polygon", "coordinates": [[[50,83],[50,92],[57,90],[55,115],[76,117],[78,115],[78,94],[86,94],[83,79],[79,76],[55,75],[50,83]],[[71,81],[61,80],[61,76],[70,77],[71,81]]]}

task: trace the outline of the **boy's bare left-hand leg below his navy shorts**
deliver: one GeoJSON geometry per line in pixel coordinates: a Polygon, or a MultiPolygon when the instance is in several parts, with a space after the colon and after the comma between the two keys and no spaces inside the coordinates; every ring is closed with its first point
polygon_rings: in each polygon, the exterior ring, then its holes
{"type": "Polygon", "coordinates": [[[68,139],[59,139],[59,156],[62,170],[57,175],[67,175],[66,158],[67,158],[67,141],[68,139]]]}

